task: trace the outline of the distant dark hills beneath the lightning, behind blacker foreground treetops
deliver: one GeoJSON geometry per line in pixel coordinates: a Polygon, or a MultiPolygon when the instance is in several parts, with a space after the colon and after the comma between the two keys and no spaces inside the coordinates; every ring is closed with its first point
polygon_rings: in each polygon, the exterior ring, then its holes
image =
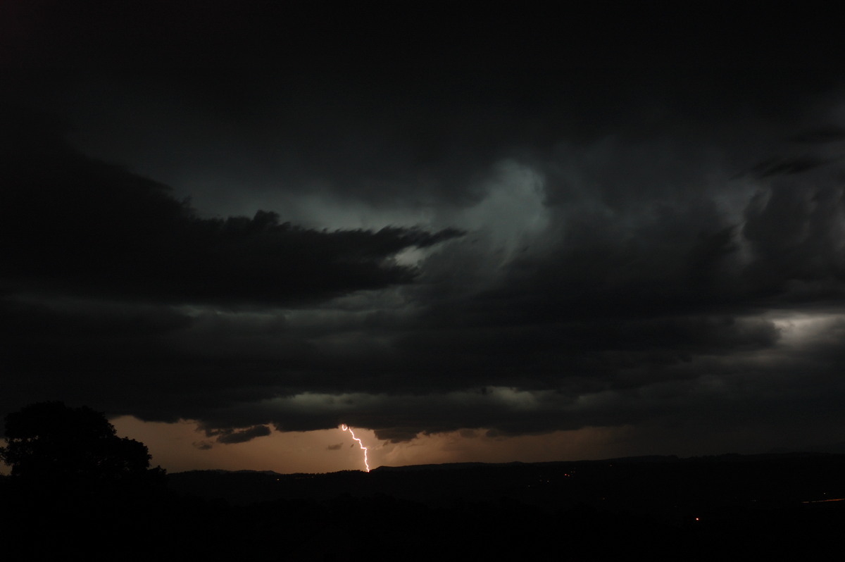
{"type": "Polygon", "coordinates": [[[545,510],[572,505],[678,515],[723,505],[788,505],[845,497],[845,456],[647,456],[605,461],[457,463],[327,474],[192,471],[170,488],[248,505],[275,499],[388,495],[430,506],[509,499],[545,510]]]}

